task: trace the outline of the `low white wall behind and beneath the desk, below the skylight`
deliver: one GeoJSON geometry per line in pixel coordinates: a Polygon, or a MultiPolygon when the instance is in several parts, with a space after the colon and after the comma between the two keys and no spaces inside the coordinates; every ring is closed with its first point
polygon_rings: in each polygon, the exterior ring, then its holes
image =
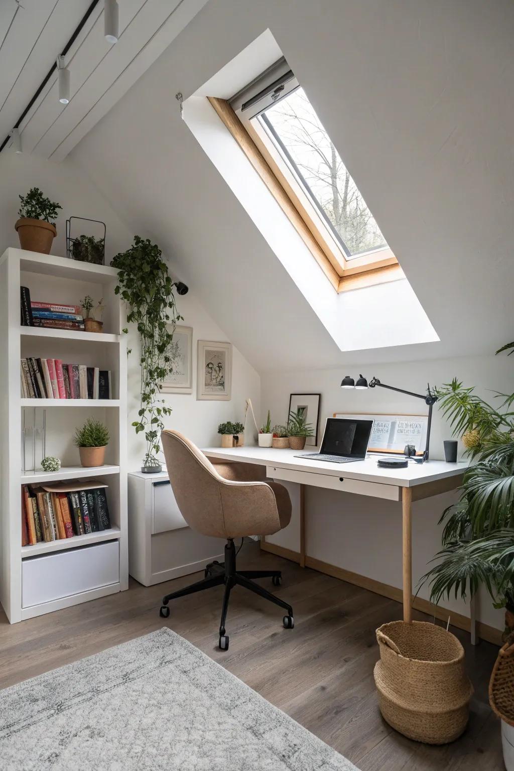
{"type": "MultiPolygon", "coordinates": [[[[498,347],[503,342],[507,340],[499,340],[498,347]]],[[[421,399],[379,388],[341,390],[344,375],[356,378],[362,372],[368,379],[376,375],[388,385],[398,385],[416,393],[424,392],[427,382],[442,385],[456,376],[465,385],[475,385],[479,396],[494,403],[494,391],[512,391],[513,370],[514,362],[506,355],[492,355],[475,359],[367,365],[360,370],[344,365],[337,369],[266,373],[261,379],[261,417],[270,409],[273,421],[284,423],[291,393],[321,392],[322,436],[325,420],[334,412],[426,414],[427,408],[421,399]]],[[[436,405],[432,419],[431,457],[444,458],[442,441],[451,438],[448,424],[436,405]]],[[[462,450],[460,446],[459,459],[462,450]]],[[[428,561],[441,548],[442,527],[438,525],[438,519],[445,507],[456,498],[449,493],[413,504],[414,586],[428,570],[428,561]]],[[[401,587],[401,507],[398,503],[307,487],[306,511],[307,554],[310,557],[401,587]]],[[[428,599],[427,586],[422,588],[420,596],[428,599]]],[[[467,605],[460,600],[450,598],[449,602],[442,601],[441,604],[469,616],[467,605]]],[[[492,608],[492,601],[485,592],[479,598],[478,617],[486,624],[503,628],[502,611],[492,608]]]]}

